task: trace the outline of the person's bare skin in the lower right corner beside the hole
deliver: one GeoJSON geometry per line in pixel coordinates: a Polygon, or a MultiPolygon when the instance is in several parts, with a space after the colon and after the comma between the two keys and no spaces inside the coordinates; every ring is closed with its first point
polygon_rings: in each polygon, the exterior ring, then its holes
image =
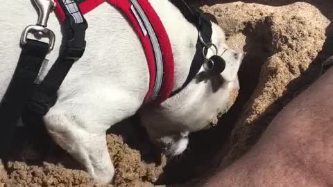
{"type": "Polygon", "coordinates": [[[333,67],[275,117],[244,157],[190,186],[333,186],[333,67]]]}

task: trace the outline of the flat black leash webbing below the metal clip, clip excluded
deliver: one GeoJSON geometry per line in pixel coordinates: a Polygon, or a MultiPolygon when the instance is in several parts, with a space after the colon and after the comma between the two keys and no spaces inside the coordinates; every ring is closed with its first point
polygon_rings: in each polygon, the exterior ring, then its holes
{"type": "Polygon", "coordinates": [[[19,62],[0,105],[0,158],[8,156],[8,151],[15,133],[17,121],[33,94],[34,81],[42,62],[49,52],[49,44],[33,39],[26,39],[22,45],[19,62]]]}

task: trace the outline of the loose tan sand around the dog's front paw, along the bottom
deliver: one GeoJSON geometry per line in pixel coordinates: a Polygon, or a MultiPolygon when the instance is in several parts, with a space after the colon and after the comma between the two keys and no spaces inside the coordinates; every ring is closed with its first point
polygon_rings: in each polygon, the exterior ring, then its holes
{"type": "MultiPolygon", "coordinates": [[[[141,159],[140,152],[123,143],[121,136],[109,134],[107,141],[110,156],[116,167],[115,186],[153,186],[151,182],[156,181],[165,166],[165,157],[162,157],[158,165],[145,163],[141,159]]],[[[51,158],[55,163],[41,161],[40,166],[29,165],[23,161],[10,161],[8,175],[3,168],[0,170],[0,184],[2,183],[3,186],[100,186],[90,179],[87,172],[65,168],[64,165],[68,163],[71,165],[76,163],[68,155],[58,154],[58,156],[58,158],[51,158]]],[[[49,155],[49,157],[52,156],[49,155]]],[[[105,185],[105,187],[111,186],[111,184],[105,185]]]]}

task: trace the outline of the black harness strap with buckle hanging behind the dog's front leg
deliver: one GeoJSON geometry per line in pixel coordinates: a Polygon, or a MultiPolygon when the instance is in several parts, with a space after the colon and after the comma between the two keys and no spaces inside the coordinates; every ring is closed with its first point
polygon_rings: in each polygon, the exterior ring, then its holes
{"type": "MultiPolygon", "coordinates": [[[[28,104],[28,110],[40,117],[49,112],[49,109],[56,104],[60,85],[74,62],[82,57],[86,46],[85,30],[88,25],[78,4],[74,0],[60,0],[59,3],[66,15],[64,44],[58,60],[53,64],[44,80],[37,85],[28,104]]],[[[29,116],[33,116],[31,112],[29,112],[29,116]]]]}

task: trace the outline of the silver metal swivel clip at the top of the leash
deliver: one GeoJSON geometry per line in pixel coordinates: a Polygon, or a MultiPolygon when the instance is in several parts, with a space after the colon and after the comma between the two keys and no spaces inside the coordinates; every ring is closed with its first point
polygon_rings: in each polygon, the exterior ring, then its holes
{"type": "Polygon", "coordinates": [[[34,0],[37,8],[39,10],[37,24],[27,26],[24,29],[21,37],[21,44],[26,44],[26,39],[28,34],[31,33],[34,35],[35,39],[42,37],[49,38],[49,51],[53,50],[54,42],[56,36],[53,31],[47,28],[47,21],[52,10],[56,7],[56,3],[53,0],[34,0]]]}

